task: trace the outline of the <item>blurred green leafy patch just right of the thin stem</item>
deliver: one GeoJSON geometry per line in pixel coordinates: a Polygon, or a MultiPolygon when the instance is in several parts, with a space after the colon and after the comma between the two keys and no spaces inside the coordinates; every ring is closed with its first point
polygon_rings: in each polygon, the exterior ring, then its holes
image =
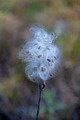
{"type": "Polygon", "coordinates": [[[47,113],[47,118],[52,120],[54,118],[54,113],[57,110],[64,109],[64,104],[60,101],[55,100],[55,90],[48,90],[43,92],[42,98],[45,104],[41,104],[40,114],[47,113]]]}

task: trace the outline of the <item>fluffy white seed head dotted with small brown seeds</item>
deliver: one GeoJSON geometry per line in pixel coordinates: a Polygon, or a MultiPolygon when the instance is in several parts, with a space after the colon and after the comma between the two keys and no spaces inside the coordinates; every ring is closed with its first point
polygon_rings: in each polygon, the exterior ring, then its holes
{"type": "Polygon", "coordinates": [[[30,33],[32,37],[19,52],[19,59],[26,62],[25,74],[31,81],[49,80],[61,64],[62,54],[54,44],[57,36],[39,27],[31,27],[30,33]]]}

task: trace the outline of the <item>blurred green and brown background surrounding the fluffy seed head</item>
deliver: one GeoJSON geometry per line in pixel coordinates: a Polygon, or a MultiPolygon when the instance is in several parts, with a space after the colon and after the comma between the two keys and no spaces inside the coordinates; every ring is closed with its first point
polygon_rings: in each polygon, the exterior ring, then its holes
{"type": "Polygon", "coordinates": [[[55,32],[63,53],[60,75],[43,90],[40,120],[80,120],[80,0],[0,0],[0,110],[35,120],[38,85],[17,57],[33,25],[55,32]]]}

